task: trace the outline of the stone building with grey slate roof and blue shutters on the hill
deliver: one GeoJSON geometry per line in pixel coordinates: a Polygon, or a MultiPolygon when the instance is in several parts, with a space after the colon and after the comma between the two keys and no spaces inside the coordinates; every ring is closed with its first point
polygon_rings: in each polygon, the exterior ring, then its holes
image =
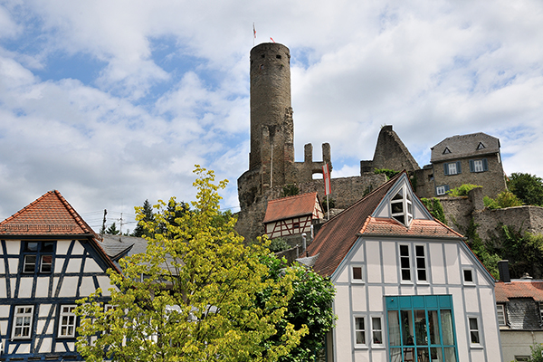
{"type": "Polygon", "coordinates": [[[415,173],[417,195],[445,195],[463,184],[482,186],[495,197],[507,189],[501,166],[500,139],[478,132],[443,139],[432,148],[431,165],[415,173]]]}

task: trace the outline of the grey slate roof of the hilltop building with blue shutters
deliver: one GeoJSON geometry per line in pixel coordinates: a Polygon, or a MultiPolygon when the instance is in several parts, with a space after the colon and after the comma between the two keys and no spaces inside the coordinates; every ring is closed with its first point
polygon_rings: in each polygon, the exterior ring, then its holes
{"type": "Polygon", "coordinates": [[[452,136],[433,146],[430,162],[440,162],[462,157],[478,157],[500,152],[500,139],[478,132],[452,136]],[[446,152],[446,150],[449,152],[446,152]]]}

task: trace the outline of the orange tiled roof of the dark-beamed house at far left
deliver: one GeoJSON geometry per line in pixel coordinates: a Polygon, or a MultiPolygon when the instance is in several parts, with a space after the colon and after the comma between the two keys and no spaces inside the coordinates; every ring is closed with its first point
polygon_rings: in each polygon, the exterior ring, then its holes
{"type": "Polygon", "coordinates": [[[0,223],[0,235],[95,235],[57,190],[0,223]]]}

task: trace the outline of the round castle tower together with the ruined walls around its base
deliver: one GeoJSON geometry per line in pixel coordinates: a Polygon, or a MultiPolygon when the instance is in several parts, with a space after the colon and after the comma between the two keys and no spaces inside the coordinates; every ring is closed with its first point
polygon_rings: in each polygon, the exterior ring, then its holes
{"type": "Polygon", "coordinates": [[[313,162],[313,147],[305,145],[304,161],[294,161],[291,106],[291,52],[279,43],[262,43],[251,50],[251,153],[249,170],[238,178],[242,211],[271,189],[312,180],[326,163],[330,146],[322,145],[322,161],[313,162]]]}

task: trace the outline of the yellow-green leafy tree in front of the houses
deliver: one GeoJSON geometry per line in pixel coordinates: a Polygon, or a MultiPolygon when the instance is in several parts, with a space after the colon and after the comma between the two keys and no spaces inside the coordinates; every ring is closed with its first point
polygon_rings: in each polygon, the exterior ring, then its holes
{"type": "Polygon", "coordinates": [[[100,291],[80,301],[77,348],[87,361],[275,361],[307,333],[288,323],[281,343],[266,342],[277,335],[295,272],[272,278],[261,262],[269,251],[245,246],[234,218],[216,222],[226,181],[195,173],[192,209],[172,224],[172,200],[159,202],[144,225],[154,234],[147,252],[121,259],[122,274],[110,271],[114,308],[104,309],[100,291]]]}

